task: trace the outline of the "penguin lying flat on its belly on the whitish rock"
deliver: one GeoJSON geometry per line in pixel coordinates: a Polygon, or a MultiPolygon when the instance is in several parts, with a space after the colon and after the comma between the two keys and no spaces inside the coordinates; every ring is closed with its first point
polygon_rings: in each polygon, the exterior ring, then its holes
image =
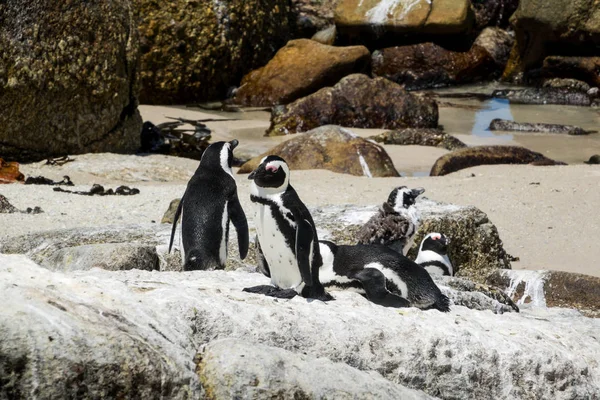
{"type": "Polygon", "coordinates": [[[320,241],[320,279],[331,290],[352,290],[385,307],[450,311],[450,301],[422,267],[387,246],[337,246],[320,241]]]}

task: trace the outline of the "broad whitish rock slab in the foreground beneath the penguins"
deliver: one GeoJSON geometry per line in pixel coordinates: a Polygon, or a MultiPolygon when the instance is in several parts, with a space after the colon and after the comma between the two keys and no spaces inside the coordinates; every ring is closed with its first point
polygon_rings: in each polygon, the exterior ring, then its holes
{"type": "Polygon", "coordinates": [[[232,338],[445,399],[600,396],[600,321],[575,311],[440,313],[356,293],[322,303],[242,292],[267,282],[224,271],[62,274],[0,255],[0,395],[203,398],[196,351],[232,338]]]}

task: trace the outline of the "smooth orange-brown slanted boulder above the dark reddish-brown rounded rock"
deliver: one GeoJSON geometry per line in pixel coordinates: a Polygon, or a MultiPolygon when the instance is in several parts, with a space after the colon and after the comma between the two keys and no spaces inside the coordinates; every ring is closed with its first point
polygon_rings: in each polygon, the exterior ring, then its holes
{"type": "Polygon", "coordinates": [[[287,104],[346,75],[368,73],[371,63],[364,46],[334,47],[310,39],[291,40],[269,63],[250,72],[233,101],[246,106],[287,104]]]}

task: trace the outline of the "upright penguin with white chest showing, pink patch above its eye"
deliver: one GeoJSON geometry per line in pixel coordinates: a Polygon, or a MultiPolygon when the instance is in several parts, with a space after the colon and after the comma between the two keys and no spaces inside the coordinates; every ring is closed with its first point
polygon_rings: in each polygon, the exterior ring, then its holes
{"type": "Polygon", "coordinates": [[[244,291],[279,298],[297,294],[331,300],[319,281],[321,253],[310,212],[290,185],[290,169],[278,156],[262,159],[248,179],[253,179],[250,200],[255,205],[257,255],[270,285],[244,291]]]}

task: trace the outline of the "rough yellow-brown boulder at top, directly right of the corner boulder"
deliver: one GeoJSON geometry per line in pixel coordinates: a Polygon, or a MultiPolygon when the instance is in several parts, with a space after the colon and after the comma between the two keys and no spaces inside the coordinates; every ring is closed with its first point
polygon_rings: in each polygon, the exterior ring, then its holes
{"type": "Polygon", "coordinates": [[[222,99],[290,38],[284,0],[133,0],[141,34],[141,101],[222,99]]]}

